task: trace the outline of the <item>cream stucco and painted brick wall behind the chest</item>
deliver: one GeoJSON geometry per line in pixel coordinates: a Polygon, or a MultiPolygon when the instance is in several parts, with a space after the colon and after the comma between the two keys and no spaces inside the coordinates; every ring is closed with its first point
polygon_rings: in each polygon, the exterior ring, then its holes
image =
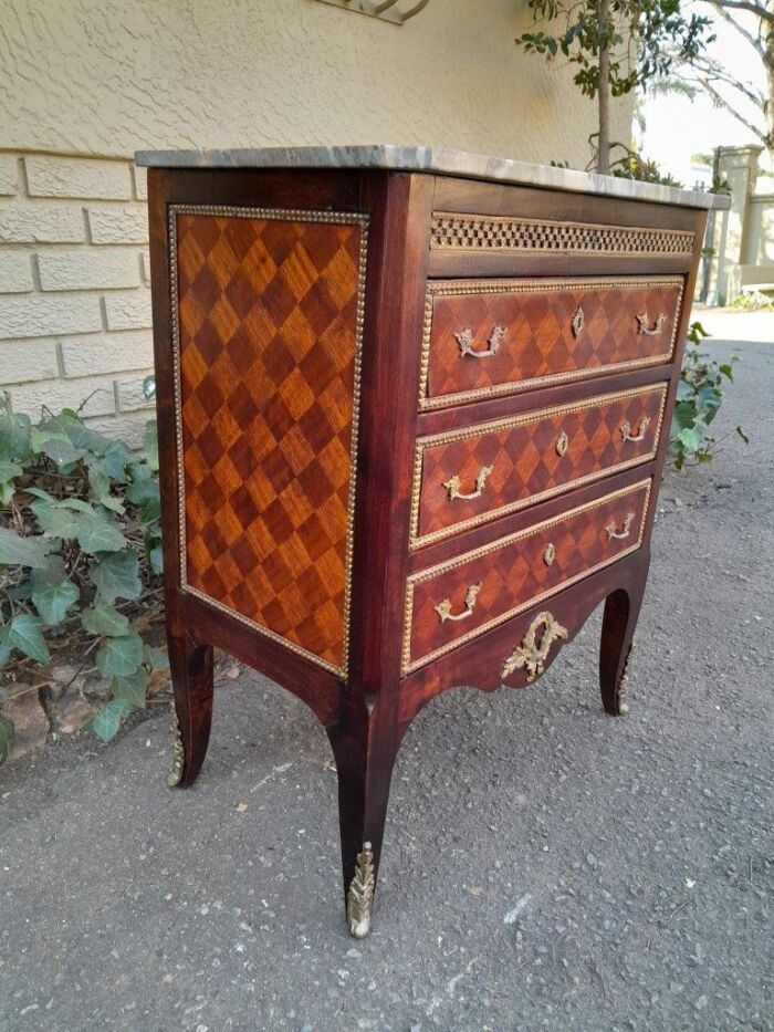
{"type": "MultiPolygon", "coordinates": [[[[583,167],[594,104],[516,50],[525,8],[430,0],[398,28],[316,0],[0,0],[0,377],[29,381],[10,381],[14,404],[72,404],[93,382],[94,418],[128,432],[143,417],[122,388],[149,361],[138,147],[416,143],[583,167]]],[[[629,126],[620,102],[614,138],[629,126]]]]}

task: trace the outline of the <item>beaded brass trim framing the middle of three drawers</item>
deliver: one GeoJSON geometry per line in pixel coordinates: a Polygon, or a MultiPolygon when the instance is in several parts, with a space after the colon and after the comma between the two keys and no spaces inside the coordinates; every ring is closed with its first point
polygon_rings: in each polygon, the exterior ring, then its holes
{"type": "Polygon", "coordinates": [[[519,416],[509,416],[508,418],[494,419],[490,423],[479,423],[474,426],[466,427],[461,430],[447,430],[442,434],[432,434],[428,437],[418,437],[414,455],[414,481],[411,484],[411,509],[409,517],[409,551],[415,552],[417,549],[432,544],[436,541],[442,541],[444,538],[450,538],[453,534],[459,534],[461,531],[468,530],[471,527],[479,527],[481,523],[488,523],[490,520],[494,520],[498,517],[505,515],[510,512],[517,512],[520,509],[526,509],[529,505],[534,505],[537,502],[545,501],[548,498],[555,498],[557,494],[563,494],[565,491],[571,491],[575,488],[584,487],[587,483],[594,483],[595,480],[600,480],[603,477],[610,477],[613,473],[623,472],[625,469],[631,469],[632,467],[640,466],[644,462],[650,462],[651,459],[656,458],[658,442],[661,437],[661,426],[663,424],[663,413],[667,403],[668,388],[668,383],[657,384],[656,386],[649,384],[645,387],[638,387],[635,390],[621,390],[615,394],[596,395],[595,397],[588,398],[585,402],[576,402],[574,405],[557,405],[553,406],[552,408],[540,408],[529,413],[523,413],[519,416]],[[589,408],[596,408],[600,405],[607,405],[613,402],[628,400],[629,398],[636,398],[644,394],[658,394],[659,392],[661,393],[661,404],[659,406],[658,423],[656,426],[656,432],[653,435],[653,447],[650,451],[647,452],[647,455],[636,456],[632,459],[627,459],[626,461],[618,462],[615,466],[595,470],[594,472],[587,473],[585,477],[577,477],[575,480],[568,480],[566,483],[556,484],[556,487],[548,488],[546,491],[540,491],[537,494],[530,494],[529,498],[519,499],[515,502],[510,502],[506,505],[500,505],[496,509],[489,509],[487,512],[482,512],[475,517],[470,517],[468,520],[460,520],[458,523],[450,523],[449,527],[443,527],[441,530],[433,531],[430,534],[423,534],[422,536],[419,535],[419,513],[422,493],[422,460],[426,449],[432,448],[436,445],[449,445],[453,441],[466,440],[470,437],[480,437],[484,434],[496,434],[499,430],[511,429],[512,427],[523,426],[527,423],[537,423],[538,420],[545,419],[546,417],[550,418],[551,416],[583,413],[587,411],[589,408]]]}

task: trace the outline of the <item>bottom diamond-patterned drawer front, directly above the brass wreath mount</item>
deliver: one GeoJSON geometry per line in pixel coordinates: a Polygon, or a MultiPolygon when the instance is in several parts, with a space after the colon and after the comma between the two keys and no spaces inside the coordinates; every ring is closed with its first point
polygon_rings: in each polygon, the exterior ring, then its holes
{"type": "Polygon", "coordinates": [[[650,488],[642,480],[410,576],[404,674],[635,552],[650,488]]]}

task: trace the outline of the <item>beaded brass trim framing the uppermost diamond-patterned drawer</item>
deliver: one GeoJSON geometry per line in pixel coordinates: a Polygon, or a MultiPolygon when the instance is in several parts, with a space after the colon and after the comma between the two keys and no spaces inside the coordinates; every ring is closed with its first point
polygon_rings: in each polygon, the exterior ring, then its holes
{"type": "Polygon", "coordinates": [[[681,275],[657,277],[604,277],[572,279],[538,279],[538,280],[451,280],[428,283],[425,296],[425,320],[422,323],[422,353],[419,368],[419,408],[421,411],[446,408],[450,405],[462,405],[467,402],[477,402],[483,398],[495,398],[506,394],[516,394],[520,390],[532,390],[553,384],[567,384],[576,379],[593,379],[607,373],[620,373],[628,369],[647,368],[650,365],[661,365],[671,362],[674,356],[680,313],[682,311],[683,290],[678,294],[674,309],[674,323],[672,335],[667,351],[648,358],[631,358],[626,362],[611,362],[596,368],[572,369],[568,373],[548,373],[545,376],[535,376],[531,379],[505,381],[502,384],[489,384],[485,387],[474,387],[471,390],[457,390],[451,394],[428,395],[428,374],[430,369],[430,344],[432,336],[432,302],[439,296],[453,296],[456,294],[524,294],[524,293],[553,293],[558,290],[582,288],[584,290],[615,290],[616,288],[635,288],[647,290],[651,286],[683,288],[684,279],[681,275]]]}

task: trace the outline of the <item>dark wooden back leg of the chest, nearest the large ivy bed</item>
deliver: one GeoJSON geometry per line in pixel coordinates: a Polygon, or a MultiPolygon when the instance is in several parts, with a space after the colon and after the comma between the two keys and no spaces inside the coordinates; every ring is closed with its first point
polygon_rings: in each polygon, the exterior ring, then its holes
{"type": "Polygon", "coordinates": [[[175,691],[172,710],[171,788],[188,788],[207,755],[212,722],[212,646],[199,645],[187,634],[168,637],[169,669],[175,691]]]}

